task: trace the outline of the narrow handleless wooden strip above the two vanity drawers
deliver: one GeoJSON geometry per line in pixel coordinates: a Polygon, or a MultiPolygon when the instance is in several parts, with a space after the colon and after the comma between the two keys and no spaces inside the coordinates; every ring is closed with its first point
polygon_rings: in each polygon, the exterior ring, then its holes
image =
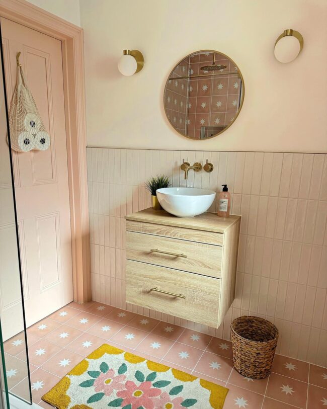
{"type": "Polygon", "coordinates": [[[164,224],[144,223],[142,221],[126,220],[126,230],[157,236],[180,238],[182,240],[197,241],[199,243],[216,244],[217,246],[223,246],[224,243],[223,233],[166,226],[164,224]]]}

